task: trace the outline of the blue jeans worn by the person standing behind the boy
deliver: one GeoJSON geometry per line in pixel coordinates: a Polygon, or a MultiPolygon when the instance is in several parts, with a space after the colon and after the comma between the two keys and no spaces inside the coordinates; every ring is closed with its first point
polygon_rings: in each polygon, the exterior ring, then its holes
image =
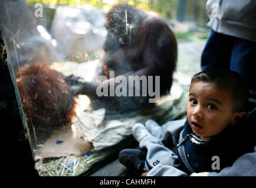
{"type": "Polygon", "coordinates": [[[256,91],[256,42],[211,31],[201,58],[202,70],[227,68],[240,73],[256,91]]]}

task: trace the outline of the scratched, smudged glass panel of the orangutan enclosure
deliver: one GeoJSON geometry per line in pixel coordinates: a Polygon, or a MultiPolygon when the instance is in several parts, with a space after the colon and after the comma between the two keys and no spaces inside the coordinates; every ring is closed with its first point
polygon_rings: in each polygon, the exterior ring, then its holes
{"type": "Polygon", "coordinates": [[[133,142],[134,123],[184,115],[209,33],[205,3],[1,1],[41,176],[90,172],[133,142]]]}

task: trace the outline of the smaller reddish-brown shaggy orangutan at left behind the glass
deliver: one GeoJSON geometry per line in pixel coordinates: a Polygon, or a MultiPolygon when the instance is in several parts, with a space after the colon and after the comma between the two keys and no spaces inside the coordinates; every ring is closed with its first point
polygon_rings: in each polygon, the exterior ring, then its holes
{"type": "Polygon", "coordinates": [[[56,128],[71,121],[75,100],[63,74],[41,64],[21,68],[16,78],[23,109],[32,125],[56,128]]]}

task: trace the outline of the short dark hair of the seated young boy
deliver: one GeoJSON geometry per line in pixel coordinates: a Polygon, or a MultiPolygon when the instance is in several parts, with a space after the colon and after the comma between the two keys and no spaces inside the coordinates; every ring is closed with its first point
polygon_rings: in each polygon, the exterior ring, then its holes
{"type": "Polygon", "coordinates": [[[219,89],[229,90],[234,102],[233,112],[245,111],[248,89],[239,73],[228,69],[208,69],[193,75],[191,84],[199,81],[214,83],[219,89]]]}

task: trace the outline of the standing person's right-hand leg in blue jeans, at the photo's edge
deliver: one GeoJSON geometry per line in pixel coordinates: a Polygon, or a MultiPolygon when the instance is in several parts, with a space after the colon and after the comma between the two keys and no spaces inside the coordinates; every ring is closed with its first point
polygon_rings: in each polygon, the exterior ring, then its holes
{"type": "Polygon", "coordinates": [[[231,56],[230,69],[238,72],[247,82],[248,89],[256,91],[256,42],[237,38],[231,56]]]}

